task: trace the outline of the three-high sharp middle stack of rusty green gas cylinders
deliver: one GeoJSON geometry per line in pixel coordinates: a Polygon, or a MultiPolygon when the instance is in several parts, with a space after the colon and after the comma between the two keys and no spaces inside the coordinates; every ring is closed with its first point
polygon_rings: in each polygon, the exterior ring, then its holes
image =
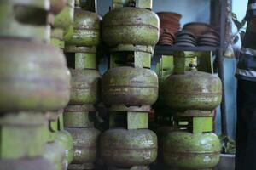
{"type": "Polygon", "coordinates": [[[103,17],[102,37],[110,50],[102,76],[102,102],[109,129],[102,133],[102,161],[109,170],[148,170],[157,158],[157,137],[148,130],[148,112],[158,97],[158,77],[150,71],[159,18],[152,1],[113,1],[103,17]]]}

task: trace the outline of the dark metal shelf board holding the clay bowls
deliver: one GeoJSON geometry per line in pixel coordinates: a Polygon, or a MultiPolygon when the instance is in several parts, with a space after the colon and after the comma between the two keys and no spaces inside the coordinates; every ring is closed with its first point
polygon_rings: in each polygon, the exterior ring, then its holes
{"type": "Polygon", "coordinates": [[[181,46],[168,46],[168,45],[157,45],[154,48],[154,54],[171,55],[174,51],[218,51],[219,47],[181,47],[181,46]]]}

